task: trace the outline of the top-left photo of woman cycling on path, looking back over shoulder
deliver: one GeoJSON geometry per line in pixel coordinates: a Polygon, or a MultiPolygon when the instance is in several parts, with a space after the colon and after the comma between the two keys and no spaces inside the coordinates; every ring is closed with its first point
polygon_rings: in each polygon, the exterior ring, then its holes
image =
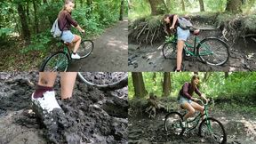
{"type": "Polygon", "coordinates": [[[0,71],[127,71],[127,0],[11,0],[0,7],[0,71]]]}

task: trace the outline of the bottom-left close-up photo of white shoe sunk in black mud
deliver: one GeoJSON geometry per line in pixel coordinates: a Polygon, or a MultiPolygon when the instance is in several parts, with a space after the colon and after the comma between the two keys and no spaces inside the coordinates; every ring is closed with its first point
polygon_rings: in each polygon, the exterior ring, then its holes
{"type": "Polygon", "coordinates": [[[1,72],[0,143],[127,143],[127,72],[1,72]]]}

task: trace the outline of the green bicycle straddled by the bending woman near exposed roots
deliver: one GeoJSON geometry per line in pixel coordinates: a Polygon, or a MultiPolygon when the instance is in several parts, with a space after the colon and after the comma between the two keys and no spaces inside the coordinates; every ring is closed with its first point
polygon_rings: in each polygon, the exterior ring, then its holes
{"type": "MultiPolygon", "coordinates": [[[[228,61],[229,48],[228,44],[217,37],[206,37],[200,40],[197,37],[198,34],[194,34],[194,44],[185,43],[183,48],[183,58],[185,56],[199,57],[204,63],[220,66],[228,61]]],[[[171,36],[166,39],[166,42],[162,48],[164,59],[176,60],[177,52],[177,36],[171,36]]]]}

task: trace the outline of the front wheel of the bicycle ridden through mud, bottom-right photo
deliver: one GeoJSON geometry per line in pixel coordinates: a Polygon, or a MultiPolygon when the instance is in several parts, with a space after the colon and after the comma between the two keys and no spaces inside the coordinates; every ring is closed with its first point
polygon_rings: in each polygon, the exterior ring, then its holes
{"type": "Polygon", "coordinates": [[[205,118],[199,125],[199,135],[211,143],[227,142],[227,134],[224,126],[213,117],[205,118]]]}

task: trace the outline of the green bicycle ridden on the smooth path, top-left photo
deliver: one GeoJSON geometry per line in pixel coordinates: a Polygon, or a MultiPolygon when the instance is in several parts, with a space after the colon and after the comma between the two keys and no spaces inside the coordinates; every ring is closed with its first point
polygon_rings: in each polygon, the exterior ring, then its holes
{"type": "MultiPolygon", "coordinates": [[[[41,68],[40,72],[49,71],[49,72],[65,72],[68,69],[68,63],[71,59],[71,52],[68,49],[69,43],[63,42],[63,51],[54,52],[52,55],[47,57],[41,68]]],[[[77,54],[80,55],[81,59],[88,57],[94,48],[92,40],[82,40],[77,54]]]]}

